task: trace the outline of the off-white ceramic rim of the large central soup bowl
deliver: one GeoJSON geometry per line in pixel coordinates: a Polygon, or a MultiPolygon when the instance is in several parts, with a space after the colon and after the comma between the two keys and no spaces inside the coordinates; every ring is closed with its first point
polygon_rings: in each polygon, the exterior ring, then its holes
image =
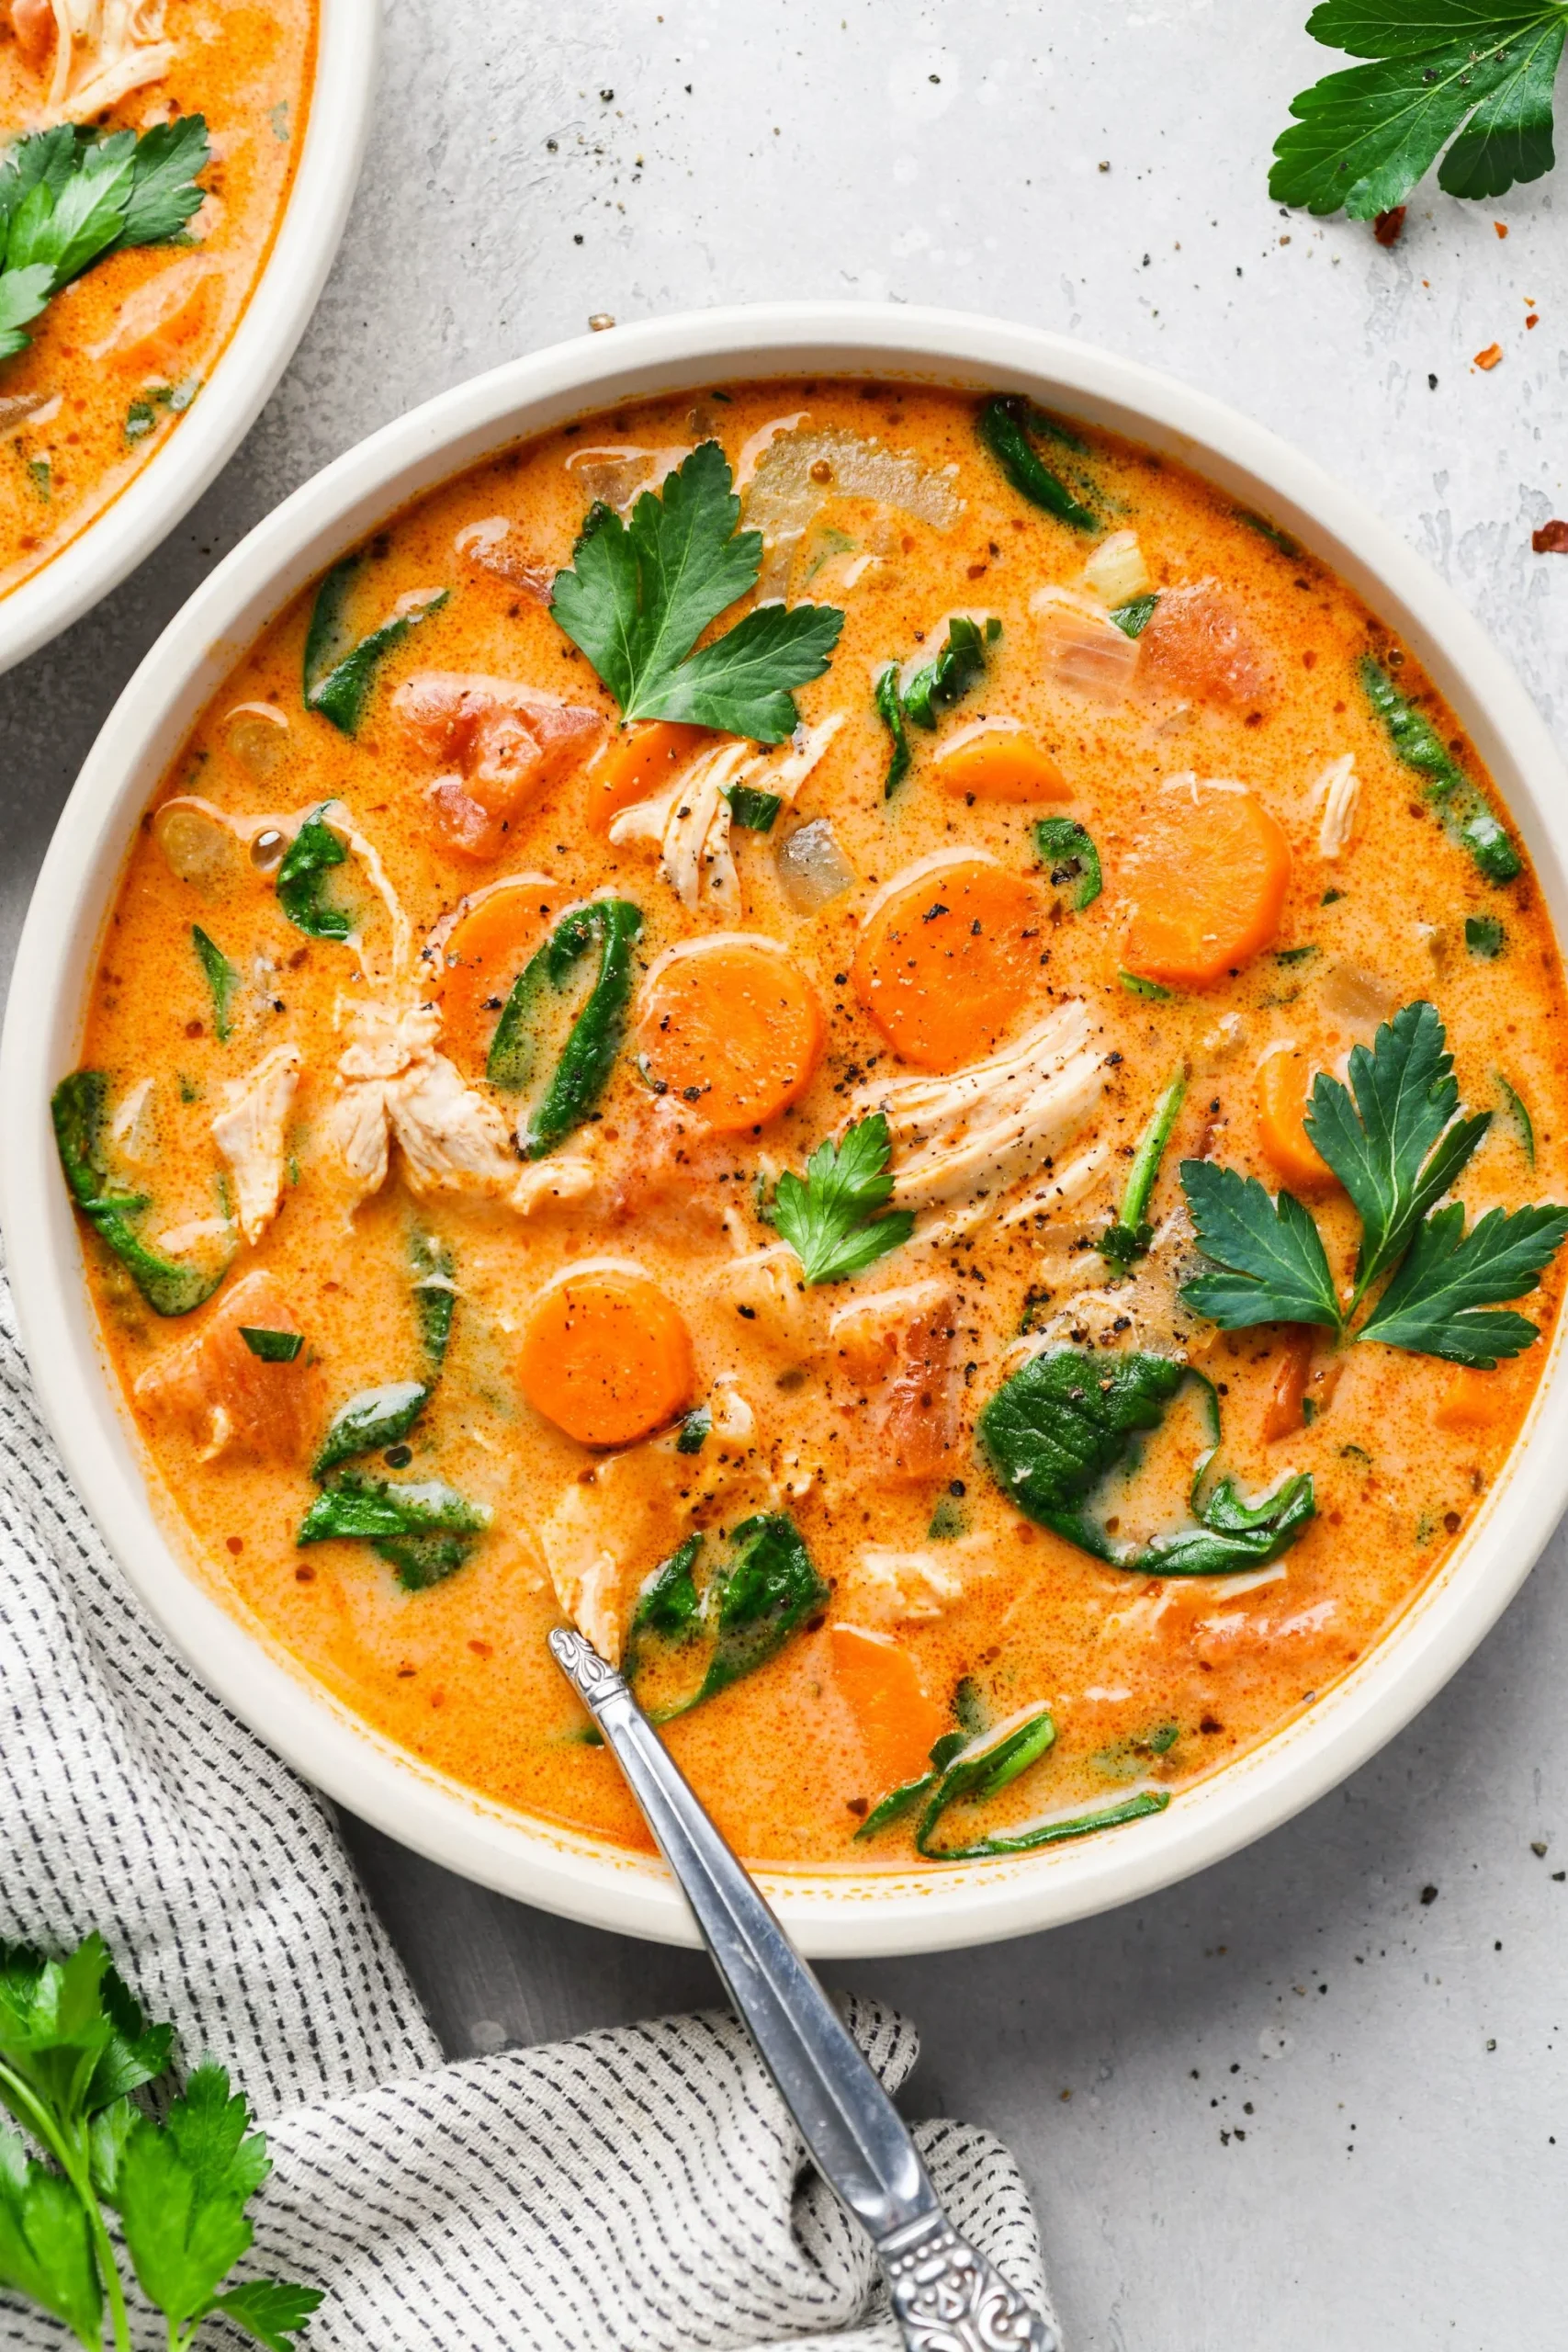
{"type": "MultiPolygon", "coordinates": [[[[524,433],[639,393],[773,374],[903,374],[1023,390],[1178,456],[1326,557],[1399,630],[1488,762],[1566,917],[1563,769],[1519,680],[1460,602],[1382,522],[1272,433],[1126,360],[945,310],[769,306],[621,327],[498,367],[350,449],[219,564],[141,663],[99,736],[28,913],[0,1047],[0,1223],[38,1390],[71,1475],[132,1585],[195,1670],[301,1773],[433,1860],[597,1926],[691,1943],[656,1863],[484,1804],[306,1682],[230,1616],[165,1541],[134,1430],[106,1381],[82,1254],[49,1136],[75,1063],[87,943],[132,828],[226,668],[331,557],[395,506],[524,433]]],[[[1443,1573],[1298,1724],[1157,1818],[1004,1863],[931,1875],[769,1875],[809,1952],[983,1943],[1126,1903],[1232,1853],[1366,1762],[1455,1672],[1509,1602],[1568,1501],[1561,1350],[1507,1479],[1443,1573]]]]}

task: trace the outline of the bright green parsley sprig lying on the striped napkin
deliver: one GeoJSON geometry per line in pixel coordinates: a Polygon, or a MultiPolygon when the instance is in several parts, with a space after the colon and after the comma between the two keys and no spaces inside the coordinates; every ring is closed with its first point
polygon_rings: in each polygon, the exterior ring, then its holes
{"type": "Polygon", "coordinates": [[[244,2206],[266,2180],[266,2140],[242,2093],[205,2060],[162,2122],[136,2093],[169,2070],[172,2025],[148,2025],[101,1936],[66,1959],[0,1945],[0,2286],[42,2305],[78,2343],[129,2352],[118,2239],[141,2293],[186,2352],[212,2314],[292,2352],[320,2291],[228,2272],[249,2251],[244,2206]],[[42,2154],[33,2154],[28,2147],[42,2154]]]}

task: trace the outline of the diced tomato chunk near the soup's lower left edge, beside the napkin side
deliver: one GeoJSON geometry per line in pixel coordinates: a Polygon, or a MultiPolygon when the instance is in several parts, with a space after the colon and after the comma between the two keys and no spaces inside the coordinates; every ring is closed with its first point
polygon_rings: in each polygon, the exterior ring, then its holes
{"type": "Polygon", "coordinates": [[[322,1423],[322,1374],[301,1348],[292,1364],[256,1355],[242,1329],[299,1331],[299,1319],[259,1268],[207,1310],[197,1331],[167,1348],[136,1381],[136,1399],[183,1423],[202,1461],[242,1454],[296,1463],[322,1423]]]}

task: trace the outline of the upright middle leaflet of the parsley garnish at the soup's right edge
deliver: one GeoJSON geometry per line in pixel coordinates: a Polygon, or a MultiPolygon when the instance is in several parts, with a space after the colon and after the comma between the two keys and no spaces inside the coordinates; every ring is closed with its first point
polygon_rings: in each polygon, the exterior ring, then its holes
{"type": "Polygon", "coordinates": [[[1349,1089],[1319,1073],[1305,1127],[1361,1218],[1349,1315],[1403,1256],[1493,1124],[1490,1110],[1450,1124],[1458,1108],[1460,1082],[1436,1004],[1406,1004],[1382,1023],[1371,1054],[1352,1047],[1349,1089]]]}

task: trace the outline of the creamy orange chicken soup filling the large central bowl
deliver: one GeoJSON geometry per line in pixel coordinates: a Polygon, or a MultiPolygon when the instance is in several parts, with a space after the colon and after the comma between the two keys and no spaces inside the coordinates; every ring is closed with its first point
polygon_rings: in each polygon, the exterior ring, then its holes
{"type": "Polygon", "coordinates": [[[811,381],[510,449],[277,616],[127,861],[61,1131],[167,1508],[522,1813],[646,1844],[569,1616],[752,1858],[1114,1835],[1505,1472],[1568,1174],[1521,858],[1375,614],[1128,442],[811,381]],[[698,477],[703,644],[816,647],[771,746],[595,670],[698,477]]]}

